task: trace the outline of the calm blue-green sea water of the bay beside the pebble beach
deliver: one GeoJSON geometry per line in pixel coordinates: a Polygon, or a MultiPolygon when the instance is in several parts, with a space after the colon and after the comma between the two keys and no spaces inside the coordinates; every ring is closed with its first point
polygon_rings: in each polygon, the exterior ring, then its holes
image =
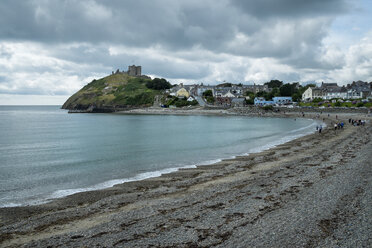
{"type": "Polygon", "coordinates": [[[307,119],[68,114],[0,106],[0,207],[159,176],[315,131],[307,119]]]}

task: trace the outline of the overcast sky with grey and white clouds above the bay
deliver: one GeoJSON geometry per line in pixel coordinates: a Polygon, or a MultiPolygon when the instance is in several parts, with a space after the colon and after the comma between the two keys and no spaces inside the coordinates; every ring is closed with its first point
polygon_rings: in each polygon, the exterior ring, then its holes
{"type": "Polygon", "coordinates": [[[372,0],[1,0],[0,105],[128,65],[175,83],[372,81],[372,0]]]}

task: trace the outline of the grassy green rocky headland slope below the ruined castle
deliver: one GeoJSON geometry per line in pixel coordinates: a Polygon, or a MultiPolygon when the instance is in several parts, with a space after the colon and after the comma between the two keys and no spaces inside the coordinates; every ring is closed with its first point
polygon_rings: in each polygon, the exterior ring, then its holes
{"type": "Polygon", "coordinates": [[[150,106],[159,94],[149,89],[147,77],[132,77],[116,73],[93,80],[73,94],[63,104],[63,109],[72,112],[113,112],[135,106],[150,106]]]}

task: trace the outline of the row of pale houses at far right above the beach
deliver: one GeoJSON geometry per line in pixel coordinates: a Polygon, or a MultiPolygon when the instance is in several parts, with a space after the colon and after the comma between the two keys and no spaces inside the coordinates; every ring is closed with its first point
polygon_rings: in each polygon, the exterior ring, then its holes
{"type": "Polygon", "coordinates": [[[371,83],[357,81],[347,86],[339,87],[337,83],[322,83],[320,87],[310,87],[302,94],[302,101],[312,101],[315,98],[331,100],[360,99],[371,97],[371,83]]]}

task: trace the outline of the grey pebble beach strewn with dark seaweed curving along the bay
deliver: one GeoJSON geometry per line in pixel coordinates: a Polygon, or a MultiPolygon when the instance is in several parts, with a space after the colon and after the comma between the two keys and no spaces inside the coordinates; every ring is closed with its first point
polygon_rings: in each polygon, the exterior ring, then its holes
{"type": "Polygon", "coordinates": [[[0,246],[370,247],[371,124],[347,121],[359,116],[339,113],[346,125],[334,131],[325,113],[322,134],[267,151],[2,208],[0,246]]]}

